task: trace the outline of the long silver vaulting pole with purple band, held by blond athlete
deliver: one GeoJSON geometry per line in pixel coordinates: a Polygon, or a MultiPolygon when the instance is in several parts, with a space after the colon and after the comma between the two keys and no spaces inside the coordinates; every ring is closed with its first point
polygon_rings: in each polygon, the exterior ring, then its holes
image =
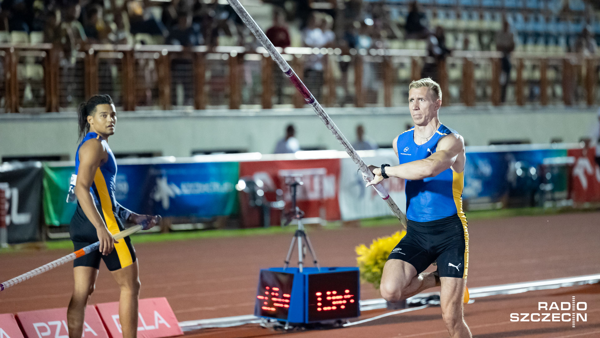
{"type": "MultiPolygon", "coordinates": [[[[287,64],[286,60],[283,60],[281,54],[279,54],[277,49],[275,49],[275,46],[273,46],[271,41],[266,37],[265,33],[262,31],[262,29],[260,29],[259,25],[257,25],[256,22],[254,22],[254,19],[252,19],[250,14],[248,14],[244,6],[240,4],[239,0],[227,1],[231,5],[231,7],[233,7],[233,10],[235,10],[236,13],[238,13],[239,17],[242,19],[242,21],[245,23],[248,29],[250,29],[252,34],[256,36],[257,40],[259,40],[263,47],[266,49],[266,51],[269,52],[269,55],[271,55],[271,58],[273,58],[275,63],[277,63],[277,66],[280,67],[280,69],[286,74],[287,78],[289,78],[290,81],[292,81],[292,84],[296,87],[296,89],[298,89],[302,96],[304,96],[304,100],[306,100],[308,105],[310,105],[313,108],[314,112],[316,112],[317,115],[319,115],[323,123],[325,123],[325,126],[327,126],[329,131],[331,131],[332,134],[334,134],[335,138],[337,138],[337,140],[340,141],[341,145],[344,147],[344,150],[346,150],[348,155],[350,155],[350,158],[352,158],[352,161],[354,161],[354,163],[358,165],[358,167],[362,171],[363,176],[365,176],[369,181],[373,180],[373,173],[371,173],[371,170],[369,170],[365,162],[362,161],[361,156],[358,156],[358,153],[356,153],[352,145],[348,142],[348,140],[346,140],[346,137],[344,137],[344,135],[341,134],[340,129],[337,128],[334,121],[332,121],[329,115],[325,112],[325,110],[323,110],[323,107],[319,104],[319,102],[317,102],[313,94],[311,94],[308,88],[302,83],[302,80],[298,77],[298,75],[296,75],[296,73],[290,67],[290,65],[287,64]]],[[[394,212],[396,217],[398,217],[400,223],[402,223],[402,225],[406,227],[406,216],[401,212],[401,210],[398,208],[396,203],[394,203],[392,198],[389,197],[388,191],[383,187],[383,185],[378,183],[376,185],[373,185],[373,188],[375,188],[380,197],[383,198],[383,200],[385,200],[386,203],[388,203],[388,206],[390,207],[390,209],[392,209],[392,212],[394,212]]]]}

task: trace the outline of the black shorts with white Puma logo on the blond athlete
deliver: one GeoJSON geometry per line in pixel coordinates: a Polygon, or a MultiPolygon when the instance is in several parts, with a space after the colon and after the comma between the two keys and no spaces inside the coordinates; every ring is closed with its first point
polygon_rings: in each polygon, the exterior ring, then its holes
{"type": "Polygon", "coordinates": [[[406,235],[389,254],[425,271],[437,260],[440,277],[467,278],[469,269],[469,233],[458,215],[436,221],[408,221],[406,235]]]}

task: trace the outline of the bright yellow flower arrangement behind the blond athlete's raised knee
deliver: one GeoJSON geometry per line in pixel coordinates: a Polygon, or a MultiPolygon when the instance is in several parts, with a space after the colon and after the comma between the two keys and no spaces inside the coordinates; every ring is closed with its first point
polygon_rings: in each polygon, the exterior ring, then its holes
{"type": "Polygon", "coordinates": [[[373,239],[373,244],[368,248],[364,244],[356,247],[356,254],[358,254],[356,262],[363,281],[368,281],[376,289],[379,289],[383,265],[385,265],[389,253],[394,250],[394,247],[404,235],[406,235],[406,231],[398,231],[392,236],[373,239]]]}

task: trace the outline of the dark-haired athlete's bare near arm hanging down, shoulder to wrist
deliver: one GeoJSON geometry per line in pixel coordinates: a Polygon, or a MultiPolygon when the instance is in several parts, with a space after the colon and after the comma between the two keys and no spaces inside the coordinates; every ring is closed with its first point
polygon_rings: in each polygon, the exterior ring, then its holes
{"type": "Polygon", "coordinates": [[[94,183],[94,176],[100,164],[106,159],[106,150],[97,140],[89,140],[79,149],[79,170],[77,171],[77,183],[75,195],[88,220],[94,224],[96,229],[106,228],[104,220],[94,203],[89,188],[94,183]]]}

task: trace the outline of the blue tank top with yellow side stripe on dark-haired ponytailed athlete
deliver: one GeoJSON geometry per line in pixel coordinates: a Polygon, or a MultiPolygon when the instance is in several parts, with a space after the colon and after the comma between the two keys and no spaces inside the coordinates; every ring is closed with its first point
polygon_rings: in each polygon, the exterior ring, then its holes
{"type": "Polygon", "coordinates": [[[100,140],[109,156],[107,161],[104,162],[104,164],[101,164],[96,170],[94,174],[94,183],[92,183],[89,191],[92,193],[94,203],[99,207],[98,211],[103,215],[109,231],[115,233],[119,231],[118,223],[115,219],[117,205],[115,198],[116,160],[115,155],[113,155],[112,150],[110,150],[109,144],[95,132],[86,134],[79,144],[79,147],[77,147],[77,152],[75,153],[75,172],[79,173],[79,149],[83,146],[83,143],[92,138],[100,140]]]}

